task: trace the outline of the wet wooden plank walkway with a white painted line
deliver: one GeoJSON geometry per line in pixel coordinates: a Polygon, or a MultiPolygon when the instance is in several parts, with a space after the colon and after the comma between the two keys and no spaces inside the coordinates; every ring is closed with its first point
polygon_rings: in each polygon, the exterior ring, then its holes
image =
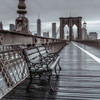
{"type": "Polygon", "coordinates": [[[69,43],[60,56],[60,78],[57,81],[52,77],[52,85],[56,89],[54,94],[35,90],[32,86],[27,93],[26,79],[2,100],[100,100],[100,49],[69,43]]]}

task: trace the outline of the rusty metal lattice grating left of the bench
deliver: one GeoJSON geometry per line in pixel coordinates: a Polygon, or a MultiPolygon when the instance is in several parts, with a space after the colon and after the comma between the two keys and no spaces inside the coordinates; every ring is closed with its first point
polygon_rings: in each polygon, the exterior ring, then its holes
{"type": "Polygon", "coordinates": [[[24,47],[18,45],[0,46],[0,97],[29,75],[21,49],[24,47]]]}

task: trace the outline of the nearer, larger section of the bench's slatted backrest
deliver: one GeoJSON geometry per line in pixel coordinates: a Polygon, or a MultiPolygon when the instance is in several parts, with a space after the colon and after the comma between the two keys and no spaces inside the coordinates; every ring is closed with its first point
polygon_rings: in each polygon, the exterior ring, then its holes
{"type": "Polygon", "coordinates": [[[40,53],[36,47],[28,48],[24,50],[25,59],[27,62],[33,64],[41,61],[40,53]]]}

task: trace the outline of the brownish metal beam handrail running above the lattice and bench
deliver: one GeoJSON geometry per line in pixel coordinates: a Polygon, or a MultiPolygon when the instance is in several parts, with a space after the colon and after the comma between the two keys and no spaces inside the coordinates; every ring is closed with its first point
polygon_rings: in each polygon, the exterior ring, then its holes
{"type": "Polygon", "coordinates": [[[0,30],[0,44],[13,45],[13,44],[45,44],[52,42],[65,42],[66,40],[46,38],[34,36],[30,34],[19,33],[16,31],[0,30]]]}

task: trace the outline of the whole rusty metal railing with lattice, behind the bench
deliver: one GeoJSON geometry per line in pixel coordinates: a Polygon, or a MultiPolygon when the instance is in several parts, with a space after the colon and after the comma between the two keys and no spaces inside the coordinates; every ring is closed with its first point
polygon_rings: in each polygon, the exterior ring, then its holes
{"type": "Polygon", "coordinates": [[[0,38],[0,98],[29,76],[23,49],[44,45],[49,51],[59,52],[66,45],[64,40],[9,31],[0,31],[0,38]]]}

